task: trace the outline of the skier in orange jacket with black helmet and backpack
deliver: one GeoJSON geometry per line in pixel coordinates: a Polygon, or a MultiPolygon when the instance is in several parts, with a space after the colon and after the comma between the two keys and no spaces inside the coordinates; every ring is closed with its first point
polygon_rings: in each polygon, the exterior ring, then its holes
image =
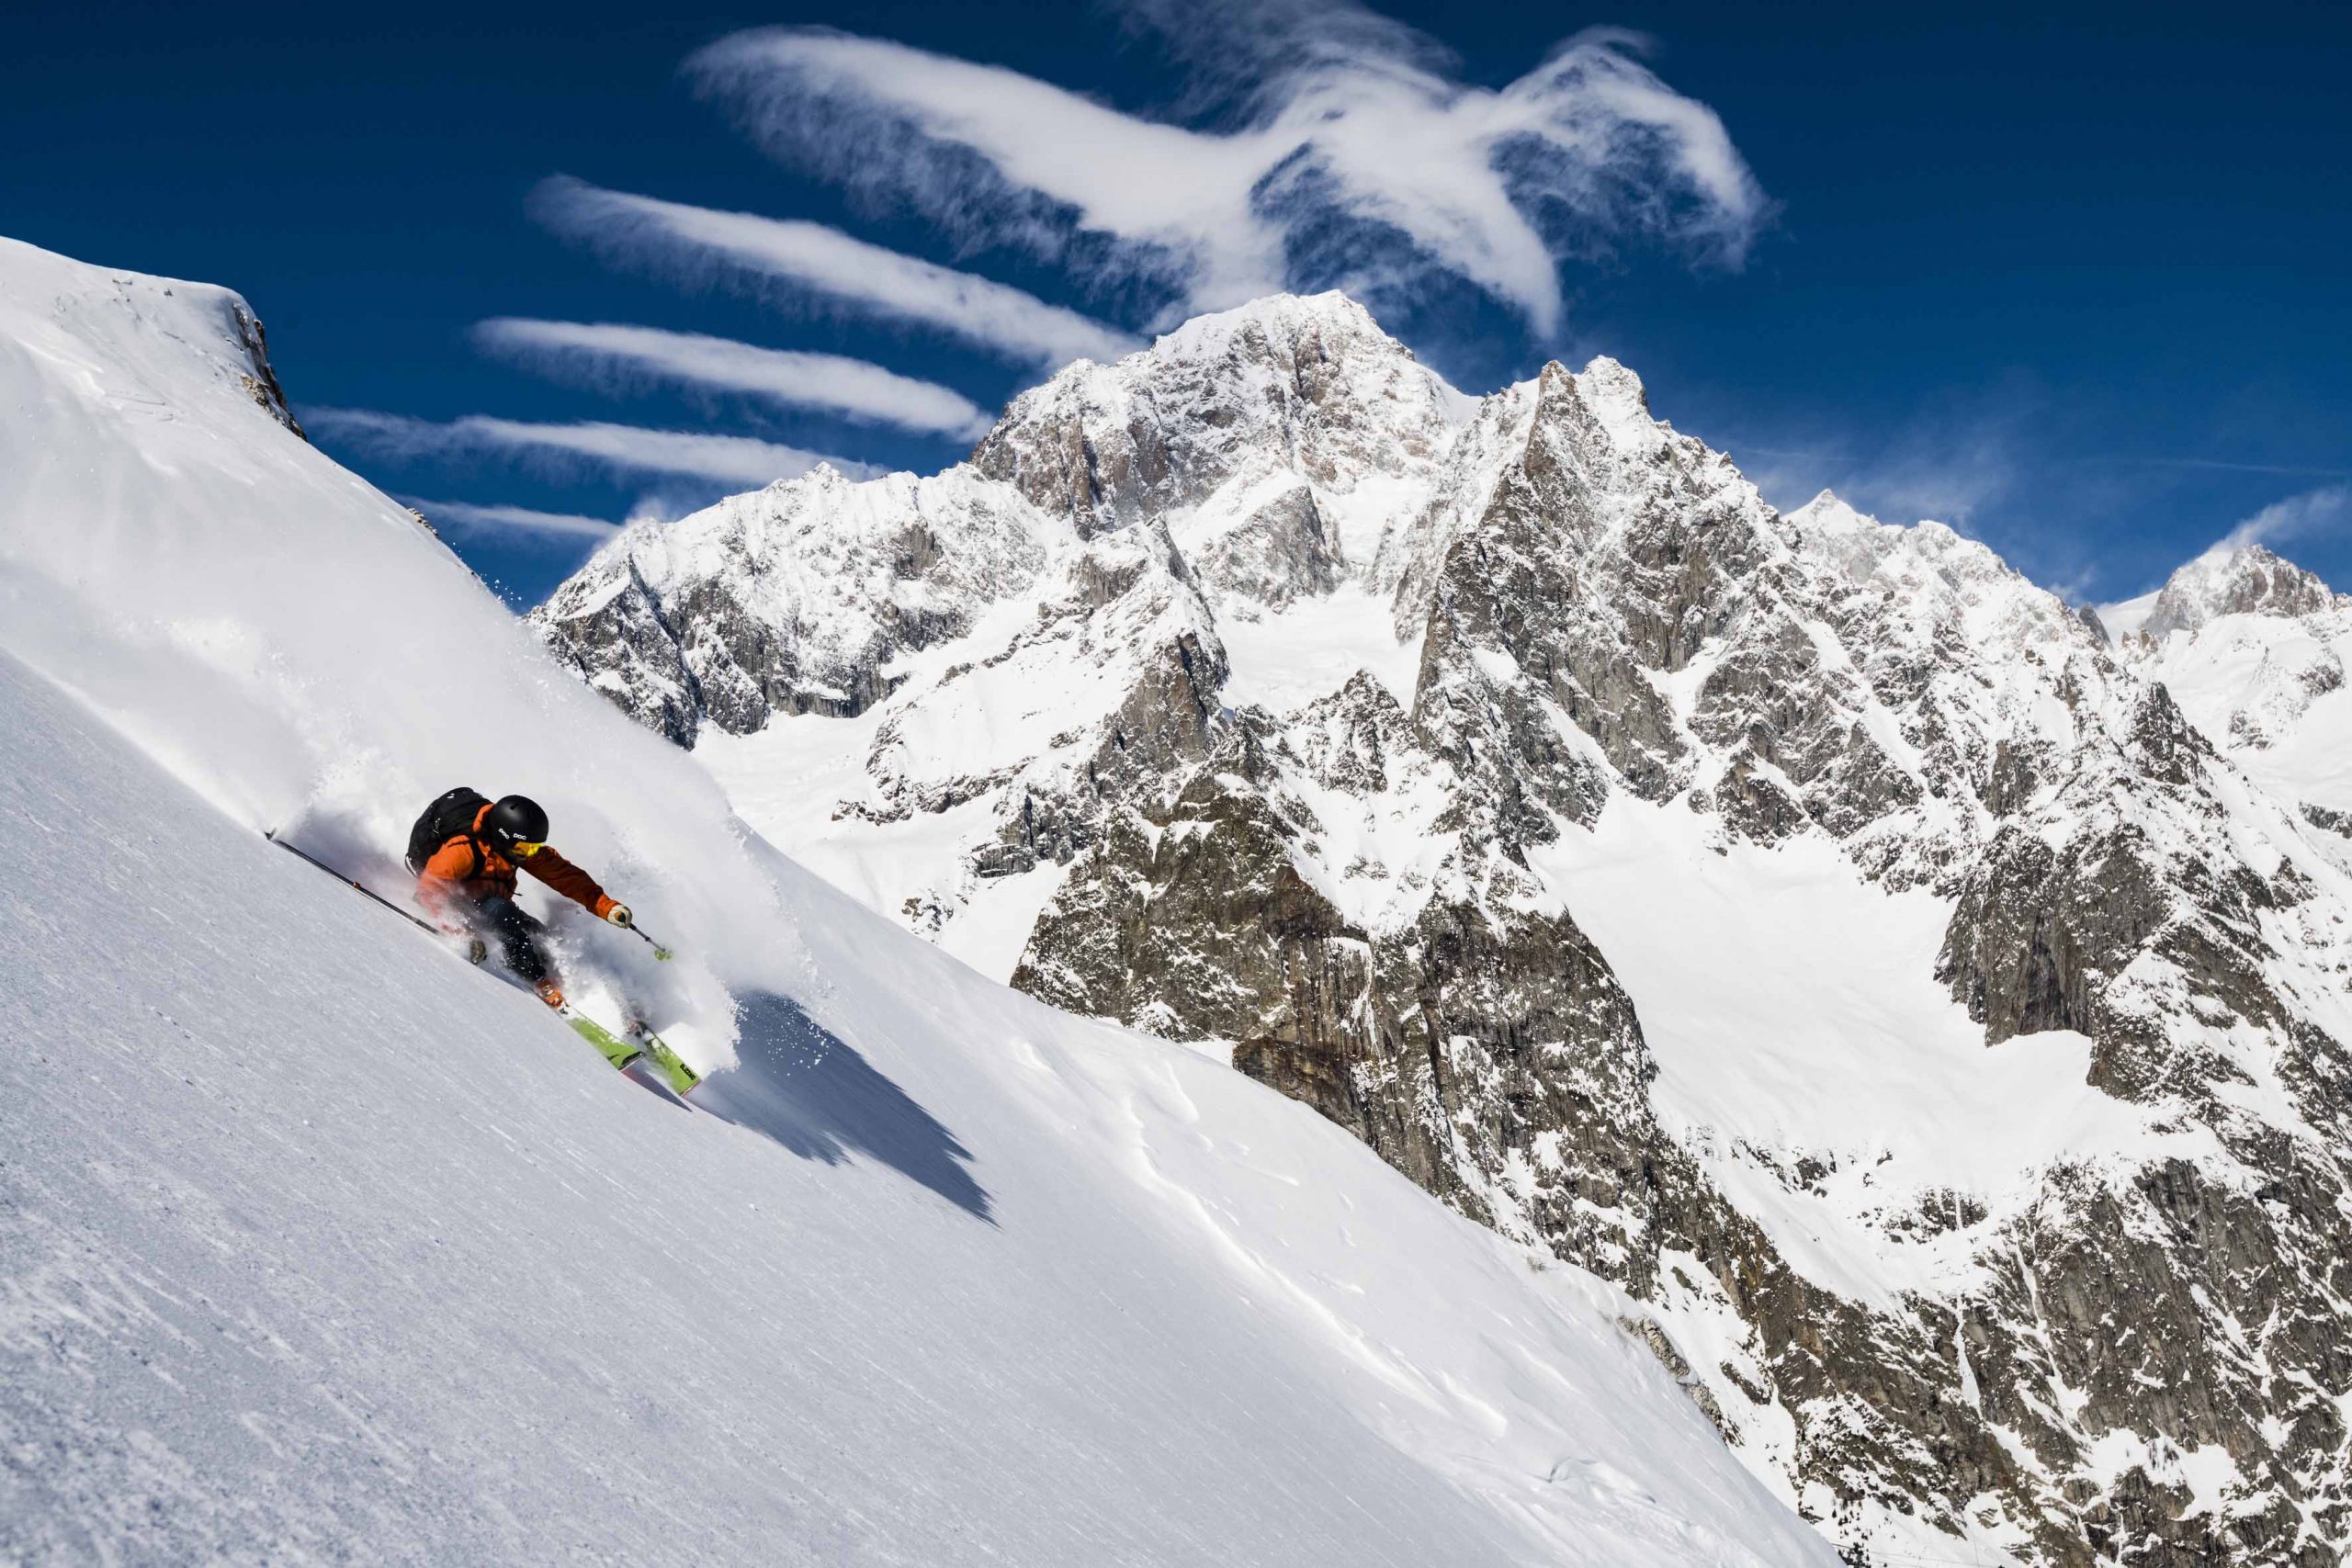
{"type": "Polygon", "coordinates": [[[548,846],[548,813],[524,795],[492,802],[463,785],[449,790],[409,830],[409,870],[416,903],[442,931],[466,938],[468,959],[485,961],[496,936],[506,966],[553,1009],[564,1006],[564,992],[548,957],[548,929],[515,903],[515,872],[529,872],[597,919],[633,924],[626,903],[548,846]]]}

